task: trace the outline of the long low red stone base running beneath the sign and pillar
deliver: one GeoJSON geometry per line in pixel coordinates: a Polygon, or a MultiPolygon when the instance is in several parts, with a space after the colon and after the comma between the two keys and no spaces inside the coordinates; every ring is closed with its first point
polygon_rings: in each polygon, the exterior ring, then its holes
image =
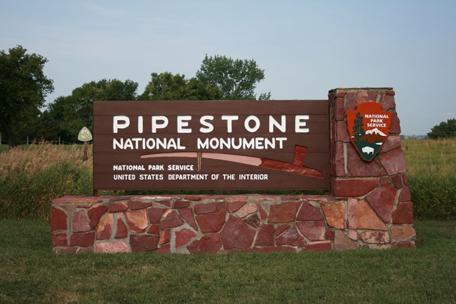
{"type": "Polygon", "coordinates": [[[379,216],[359,198],[318,195],[65,197],[51,207],[56,253],[415,247],[415,230],[405,222],[379,216]]]}

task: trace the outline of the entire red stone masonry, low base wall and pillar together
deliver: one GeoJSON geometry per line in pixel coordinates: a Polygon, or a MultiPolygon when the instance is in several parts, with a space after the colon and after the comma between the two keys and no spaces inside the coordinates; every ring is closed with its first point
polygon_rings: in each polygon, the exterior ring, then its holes
{"type": "Polygon", "coordinates": [[[156,254],[415,248],[401,126],[391,88],[335,89],[330,195],[173,195],[53,200],[56,253],[156,254]],[[393,113],[371,162],[349,141],[347,109],[379,102],[393,113]]]}

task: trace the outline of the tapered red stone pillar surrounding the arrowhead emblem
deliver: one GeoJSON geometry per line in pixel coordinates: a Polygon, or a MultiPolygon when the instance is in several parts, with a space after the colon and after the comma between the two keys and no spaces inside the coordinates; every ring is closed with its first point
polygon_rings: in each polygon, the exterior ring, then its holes
{"type": "MultiPolygon", "coordinates": [[[[412,202],[401,125],[392,88],[337,88],[329,92],[331,120],[331,195],[346,202],[344,237],[385,247],[415,247],[412,202]],[[363,160],[350,142],[347,110],[377,102],[392,113],[389,136],[377,156],[363,160]]],[[[336,233],[337,239],[337,233],[336,233]]]]}

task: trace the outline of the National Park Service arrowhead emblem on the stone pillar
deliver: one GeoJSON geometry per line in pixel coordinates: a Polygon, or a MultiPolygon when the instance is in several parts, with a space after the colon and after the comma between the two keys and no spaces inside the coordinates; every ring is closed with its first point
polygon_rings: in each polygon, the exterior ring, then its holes
{"type": "Polygon", "coordinates": [[[382,104],[364,102],[356,110],[347,110],[347,126],[351,144],[363,160],[371,161],[387,139],[391,112],[382,111],[382,104]]]}

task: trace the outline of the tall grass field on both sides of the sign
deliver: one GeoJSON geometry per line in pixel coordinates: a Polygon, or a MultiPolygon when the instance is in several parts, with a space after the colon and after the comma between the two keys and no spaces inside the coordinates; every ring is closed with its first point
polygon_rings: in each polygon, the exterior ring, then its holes
{"type": "MultiPolygon", "coordinates": [[[[417,219],[456,218],[456,139],[404,140],[417,219]]],[[[92,156],[81,145],[0,147],[0,219],[48,219],[53,198],[92,195],[92,156]]]]}

